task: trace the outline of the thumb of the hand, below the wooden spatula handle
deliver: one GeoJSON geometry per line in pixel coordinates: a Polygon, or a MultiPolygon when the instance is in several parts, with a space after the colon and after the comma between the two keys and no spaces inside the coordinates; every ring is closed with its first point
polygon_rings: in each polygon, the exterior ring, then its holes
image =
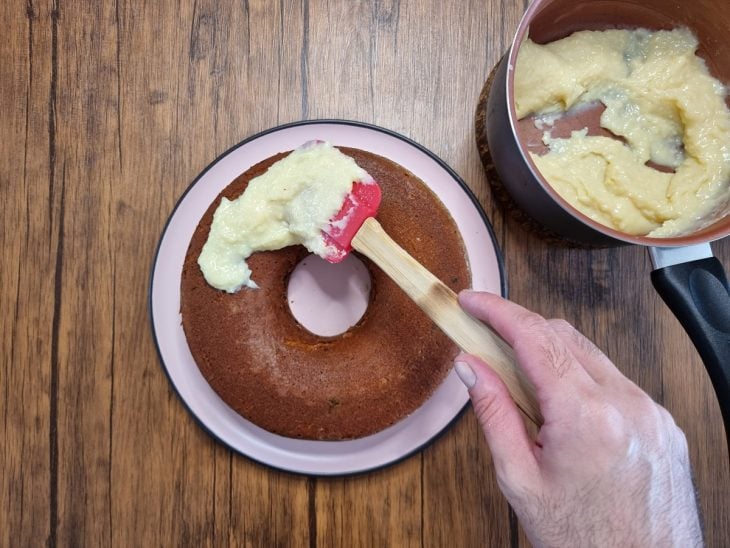
{"type": "Polygon", "coordinates": [[[524,477],[525,468],[536,465],[535,444],[507,387],[489,366],[469,354],[457,356],[454,369],[469,390],[497,475],[505,480],[524,477]]]}

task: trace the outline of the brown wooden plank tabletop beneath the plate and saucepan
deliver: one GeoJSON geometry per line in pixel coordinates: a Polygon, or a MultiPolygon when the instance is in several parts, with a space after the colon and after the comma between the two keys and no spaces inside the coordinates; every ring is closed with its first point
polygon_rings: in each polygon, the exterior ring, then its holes
{"type": "MultiPolygon", "coordinates": [[[[211,439],[158,362],[147,296],[176,201],[278,124],[423,144],[478,196],[513,300],[564,317],[685,430],[706,536],[730,538],[718,405],[638,247],[548,244],[493,198],[481,87],[522,1],[0,3],[0,545],[525,545],[469,410],[395,466],[277,472],[211,439]]],[[[730,241],[714,244],[730,266],[730,241]]]]}

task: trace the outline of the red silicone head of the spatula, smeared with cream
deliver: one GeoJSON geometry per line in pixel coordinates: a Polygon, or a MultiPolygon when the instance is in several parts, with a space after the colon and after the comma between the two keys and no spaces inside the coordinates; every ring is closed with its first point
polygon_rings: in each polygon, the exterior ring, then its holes
{"type": "Polygon", "coordinates": [[[352,239],[380,206],[380,186],[374,180],[355,181],[345,196],[342,207],[322,231],[325,244],[331,249],[324,258],[339,263],[352,251],[352,239]]]}

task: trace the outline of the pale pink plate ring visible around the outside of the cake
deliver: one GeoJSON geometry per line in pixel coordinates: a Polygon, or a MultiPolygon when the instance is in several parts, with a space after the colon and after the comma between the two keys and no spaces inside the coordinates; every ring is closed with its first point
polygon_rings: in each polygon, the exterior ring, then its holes
{"type": "Polygon", "coordinates": [[[377,434],[336,442],[285,438],[247,421],[218,397],[193,360],[180,317],[183,261],[209,204],[252,165],[315,139],[379,154],[411,171],[429,186],[454,218],[466,247],[473,287],[505,295],[506,282],[489,221],[464,182],[435,154],[386,129],[341,120],[279,126],[231,148],[193,181],[165,226],[152,267],[150,316],[163,369],[200,425],[234,451],[288,472],[337,476],[393,464],[444,432],[469,401],[456,374],[449,373],[415,412],[377,434]]]}

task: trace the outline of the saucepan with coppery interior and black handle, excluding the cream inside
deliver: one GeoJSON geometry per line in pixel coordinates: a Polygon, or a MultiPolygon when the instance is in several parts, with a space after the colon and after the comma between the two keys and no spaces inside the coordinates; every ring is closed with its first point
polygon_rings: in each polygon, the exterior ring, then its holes
{"type": "MultiPolygon", "coordinates": [[[[712,380],[730,443],[730,288],[725,271],[713,257],[710,242],[730,234],[728,208],[705,228],[677,238],[649,238],[612,230],[583,215],[561,198],[540,175],[528,151],[541,152],[531,120],[518,121],[514,105],[514,66],[528,36],[538,43],[577,30],[607,28],[670,29],[685,26],[700,42],[698,54],[710,72],[730,83],[730,2],[693,0],[534,0],[517,29],[511,49],[495,70],[487,102],[489,151],[502,184],[512,199],[535,220],[567,239],[589,245],[647,246],[654,270],[651,279],[697,348],[712,380]]],[[[730,101],[730,98],[728,99],[730,101]]],[[[729,103],[730,104],[730,103],[729,103]]],[[[566,117],[570,129],[588,126],[602,133],[601,107],[566,117]]],[[[566,131],[567,130],[567,131],[566,131]]]]}

